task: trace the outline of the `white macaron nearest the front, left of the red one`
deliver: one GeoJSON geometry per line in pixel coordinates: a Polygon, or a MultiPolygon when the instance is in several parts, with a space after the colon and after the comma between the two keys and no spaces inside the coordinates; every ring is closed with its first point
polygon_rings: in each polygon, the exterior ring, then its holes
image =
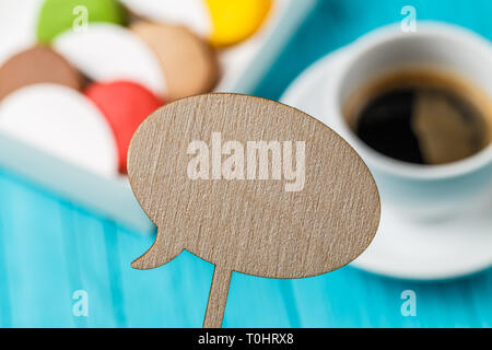
{"type": "Polygon", "coordinates": [[[103,176],[118,174],[109,125],[73,89],[34,84],[15,91],[0,104],[0,131],[103,176]]]}

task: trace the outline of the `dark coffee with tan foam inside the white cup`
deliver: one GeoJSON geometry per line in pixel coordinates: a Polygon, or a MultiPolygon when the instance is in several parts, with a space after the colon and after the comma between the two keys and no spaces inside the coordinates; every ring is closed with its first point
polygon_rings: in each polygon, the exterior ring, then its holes
{"type": "Polygon", "coordinates": [[[355,93],[345,117],[362,141],[387,156],[445,164],[490,144],[492,110],[484,96],[456,78],[405,72],[355,93]]]}

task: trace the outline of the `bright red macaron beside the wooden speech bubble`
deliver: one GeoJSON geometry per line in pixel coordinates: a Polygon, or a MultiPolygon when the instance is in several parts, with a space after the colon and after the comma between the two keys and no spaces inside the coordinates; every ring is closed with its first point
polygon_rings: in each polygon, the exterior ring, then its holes
{"type": "Polygon", "coordinates": [[[130,81],[95,82],[84,94],[106,117],[118,148],[119,172],[126,174],[128,147],[134,131],[164,101],[130,81]]]}

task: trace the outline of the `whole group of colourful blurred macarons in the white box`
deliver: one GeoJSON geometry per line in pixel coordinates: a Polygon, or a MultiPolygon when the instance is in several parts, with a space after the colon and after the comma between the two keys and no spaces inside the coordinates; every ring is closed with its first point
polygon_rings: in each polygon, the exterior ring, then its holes
{"type": "Polygon", "coordinates": [[[112,176],[147,116],[214,88],[218,51],[272,0],[28,1],[33,43],[0,67],[0,131],[112,176]]]}

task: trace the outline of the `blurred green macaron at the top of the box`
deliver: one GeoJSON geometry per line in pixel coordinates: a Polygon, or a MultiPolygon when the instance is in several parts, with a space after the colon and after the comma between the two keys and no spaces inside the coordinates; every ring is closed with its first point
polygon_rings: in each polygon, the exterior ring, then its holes
{"type": "Polygon", "coordinates": [[[49,44],[58,34],[86,23],[127,23],[127,12],[117,0],[46,0],[37,22],[37,39],[49,44]]]}

